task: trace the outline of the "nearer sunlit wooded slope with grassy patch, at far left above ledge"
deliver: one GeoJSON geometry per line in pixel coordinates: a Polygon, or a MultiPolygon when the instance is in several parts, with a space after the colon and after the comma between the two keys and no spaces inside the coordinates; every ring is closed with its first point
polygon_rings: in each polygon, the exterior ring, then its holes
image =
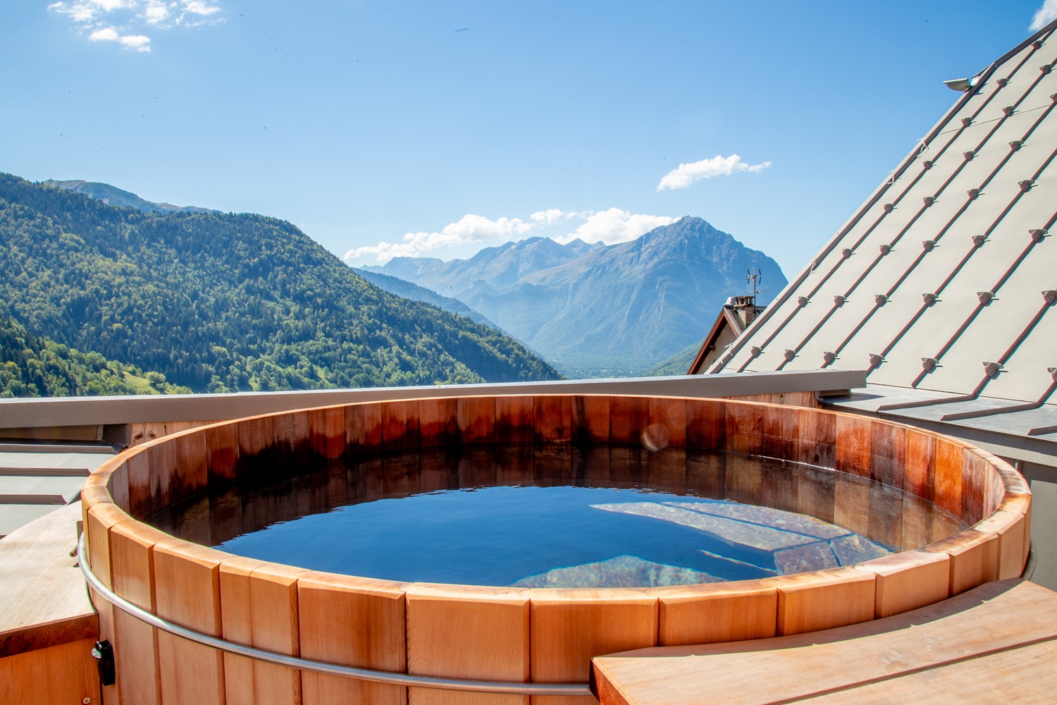
{"type": "Polygon", "coordinates": [[[179,394],[157,372],[107,359],[38,338],[0,316],[0,397],[179,394]]]}

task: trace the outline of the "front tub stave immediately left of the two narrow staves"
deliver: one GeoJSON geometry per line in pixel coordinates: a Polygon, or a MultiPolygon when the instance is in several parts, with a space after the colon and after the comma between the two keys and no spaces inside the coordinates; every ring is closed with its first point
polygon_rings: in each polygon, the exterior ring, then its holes
{"type": "MultiPolygon", "coordinates": [[[[157,615],[183,627],[221,635],[219,551],[184,541],[154,544],[157,615]]],[[[223,705],[221,652],[172,634],[157,635],[162,701],[223,705]]]]}

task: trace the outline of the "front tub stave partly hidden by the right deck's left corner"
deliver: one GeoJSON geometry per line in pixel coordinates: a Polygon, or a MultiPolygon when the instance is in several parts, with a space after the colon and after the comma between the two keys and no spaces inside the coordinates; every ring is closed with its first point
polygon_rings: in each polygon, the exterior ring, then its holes
{"type": "MultiPolygon", "coordinates": [[[[532,680],[587,683],[591,660],[653,646],[657,599],[644,591],[532,590],[532,680]]],[[[534,697],[534,704],[591,703],[594,699],[534,697]]]]}

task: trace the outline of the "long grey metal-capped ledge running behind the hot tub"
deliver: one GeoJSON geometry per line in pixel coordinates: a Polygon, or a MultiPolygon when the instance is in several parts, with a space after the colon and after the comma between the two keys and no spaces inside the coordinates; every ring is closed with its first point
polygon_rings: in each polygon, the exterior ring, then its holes
{"type": "Polygon", "coordinates": [[[324,389],[236,394],[76,396],[0,400],[0,429],[85,425],[220,421],[263,413],[385,400],[479,394],[639,394],[747,396],[866,386],[864,371],[802,370],[626,379],[565,379],[514,384],[324,389]]]}

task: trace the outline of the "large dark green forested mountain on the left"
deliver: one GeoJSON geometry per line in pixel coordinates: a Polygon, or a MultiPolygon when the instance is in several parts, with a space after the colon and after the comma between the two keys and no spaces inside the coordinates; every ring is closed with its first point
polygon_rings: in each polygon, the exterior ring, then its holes
{"type": "Polygon", "coordinates": [[[275,218],[143,212],[0,174],[0,314],[196,391],[559,376],[275,218]]]}

